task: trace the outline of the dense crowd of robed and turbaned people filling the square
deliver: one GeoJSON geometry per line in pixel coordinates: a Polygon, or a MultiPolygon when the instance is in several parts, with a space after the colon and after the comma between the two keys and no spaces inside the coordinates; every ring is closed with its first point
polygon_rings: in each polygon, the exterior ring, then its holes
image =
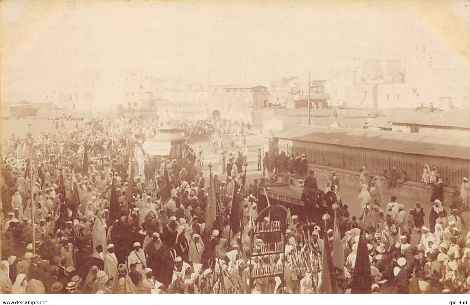
{"type": "MultiPolygon", "coordinates": [[[[305,155],[266,153],[266,170],[301,178],[305,210],[288,213],[281,239],[253,240],[270,222],[258,210],[268,182],[246,181],[246,154],[222,153],[226,179],[204,175],[190,147],[180,159],[149,157],[142,138],[158,124],[88,119],[2,144],[3,294],[347,294],[363,274],[362,293],[469,292],[468,193],[406,211],[396,197],[386,202],[366,168],[357,201],[343,202],[335,172],[323,189],[305,155]],[[362,213],[351,217],[348,204],[362,213]],[[253,245],[276,253],[252,257],[253,245]],[[282,275],[252,276],[273,266],[282,275]]],[[[211,124],[220,134],[235,126],[211,124]]]]}

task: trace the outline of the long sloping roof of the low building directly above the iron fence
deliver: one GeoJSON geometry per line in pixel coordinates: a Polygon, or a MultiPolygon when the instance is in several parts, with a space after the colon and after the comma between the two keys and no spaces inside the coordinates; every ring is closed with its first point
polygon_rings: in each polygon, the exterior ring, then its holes
{"type": "Polygon", "coordinates": [[[470,139],[440,137],[415,133],[324,128],[299,125],[275,135],[279,139],[334,144],[399,153],[470,159],[470,139]]]}

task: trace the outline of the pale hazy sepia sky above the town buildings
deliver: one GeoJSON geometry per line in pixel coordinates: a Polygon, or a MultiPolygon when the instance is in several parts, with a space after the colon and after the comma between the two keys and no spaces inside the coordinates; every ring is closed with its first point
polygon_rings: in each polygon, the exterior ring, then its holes
{"type": "Polygon", "coordinates": [[[341,60],[404,58],[422,33],[456,54],[469,46],[463,0],[233,2],[1,1],[1,98],[73,87],[86,73],[108,90],[131,71],[234,84],[321,77],[341,60]]]}

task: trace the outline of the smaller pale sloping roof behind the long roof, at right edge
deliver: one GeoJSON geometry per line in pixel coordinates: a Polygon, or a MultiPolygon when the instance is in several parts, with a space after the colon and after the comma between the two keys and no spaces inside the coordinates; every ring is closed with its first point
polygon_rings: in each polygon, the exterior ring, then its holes
{"type": "Polygon", "coordinates": [[[392,119],[392,123],[416,124],[440,127],[470,128],[470,112],[468,109],[450,111],[419,112],[392,119]]]}

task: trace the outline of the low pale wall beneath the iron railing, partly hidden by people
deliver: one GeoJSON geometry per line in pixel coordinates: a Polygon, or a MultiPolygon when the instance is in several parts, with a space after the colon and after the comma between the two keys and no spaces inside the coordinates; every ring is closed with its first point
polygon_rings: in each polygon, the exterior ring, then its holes
{"type": "MultiPolygon", "coordinates": [[[[331,172],[335,171],[336,176],[339,179],[340,188],[342,185],[345,185],[347,187],[355,188],[359,192],[360,172],[346,170],[346,169],[336,169],[336,168],[317,165],[313,163],[308,164],[308,170],[314,170],[315,177],[317,177],[317,180],[320,180],[320,181],[328,180],[329,177],[331,176],[331,172]]],[[[418,183],[415,181],[407,181],[401,184],[400,186],[397,186],[393,189],[389,189],[387,186],[387,181],[385,181],[385,178],[381,175],[376,175],[376,176],[379,176],[381,178],[381,182],[382,182],[381,191],[382,191],[382,196],[384,197],[383,200],[385,202],[390,202],[390,197],[392,197],[392,195],[397,196],[398,199],[400,197],[401,198],[405,197],[405,198],[413,199],[415,201],[419,201],[422,203],[431,202],[432,191],[431,191],[431,186],[429,185],[424,185],[423,183],[418,183]]],[[[450,204],[451,198],[452,198],[452,189],[445,187],[443,204],[448,207],[450,204]]]]}

